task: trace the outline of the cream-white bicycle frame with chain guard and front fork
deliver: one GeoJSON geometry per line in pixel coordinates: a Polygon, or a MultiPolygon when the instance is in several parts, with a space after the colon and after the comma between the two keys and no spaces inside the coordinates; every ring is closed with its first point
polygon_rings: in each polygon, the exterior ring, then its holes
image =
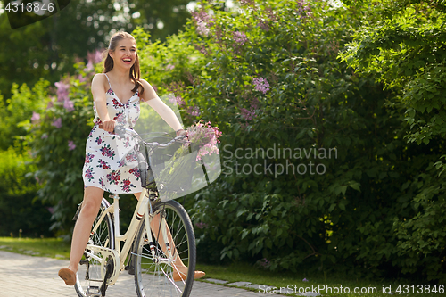
{"type": "MultiPolygon", "coordinates": [[[[114,234],[114,249],[105,248],[102,246],[97,246],[94,244],[87,244],[86,253],[89,257],[94,258],[95,260],[98,260],[101,263],[101,277],[102,279],[105,278],[105,266],[107,265],[107,260],[109,256],[111,256],[111,259],[113,260],[113,273],[111,274],[109,281],[107,285],[114,285],[118,279],[118,276],[120,276],[120,273],[125,270],[125,261],[128,256],[128,252],[130,252],[130,249],[132,247],[132,243],[135,240],[136,233],[140,227],[140,221],[145,218],[145,229],[147,233],[147,237],[150,244],[150,250],[152,252],[152,259],[155,261],[165,261],[168,263],[175,262],[172,257],[172,253],[170,251],[169,246],[169,237],[166,230],[166,223],[164,217],[161,216],[161,235],[162,238],[165,240],[165,246],[166,246],[166,252],[168,259],[159,259],[159,257],[156,257],[155,254],[155,245],[153,242],[152,232],[150,223],[153,219],[153,208],[152,208],[152,202],[149,199],[149,195],[153,194],[153,192],[147,191],[147,189],[143,188],[143,191],[141,192],[141,195],[139,196],[139,200],[136,204],[135,212],[133,214],[132,220],[130,221],[130,226],[128,227],[127,232],[124,235],[120,235],[120,196],[118,194],[111,195],[111,198],[113,198],[113,203],[108,207],[106,210],[103,211],[101,218],[98,219],[98,222],[101,222],[105,216],[108,213],[112,213],[114,217],[114,226],[111,227],[112,232],[114,234]],[[148,211],[146,211],[148,210],[148,211]],[[122,251],[120,250],[120,243],[124,242],[124,245],[122,247],[122,251]],[[91,252],[87,252],[87,250],[91,252]],[[98,256],[98,254],[101,254],[102,258],[98,256]],[[119,268],[119,269],[118,269],[119,268]]],[[[94,234],[96,232],[97,227],[100,224],[96,224],[95,227],[92,230],[91,234],[94,234]]],[[[144,256],[143,256],[144,257],[144,256]]]]}

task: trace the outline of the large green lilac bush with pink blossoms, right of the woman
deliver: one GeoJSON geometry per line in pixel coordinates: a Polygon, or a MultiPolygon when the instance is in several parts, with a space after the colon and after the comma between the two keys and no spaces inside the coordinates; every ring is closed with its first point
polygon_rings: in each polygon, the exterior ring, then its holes
{"type": "MultiPolygon", "coordinates": [[[[392,92],[337,60],[363,12],[320,1],[241,4],[244,13],[199,4],[184,33],[145,44],[142,69],[158,89],[175,92],[187,120],[211,120],[224,134],[224,174],[188,205],[199,248],[211,259],[243,257],[271,269],[444,278],[441,244],[426,246],[425,255],[401,241],[415,238],[416,227],[401,222],[426,219],[416,197],[429,190],[421,179],[431,174],[442,140],[407,144],[405,110],[389,100],[392,92]],[[337,158],[246,155],[273,144],[333,149],[337,158]],[[269,170],[290,163],[308,172],[269,170]],[[255,166],[266,170],[247,173],[255,166]]],[[[144,43],[144,32],[137,34],[144,43]]],[[[428,192],[435,191],[441,188],[428,192]]],[[[442,243],[434,224],[442,213],[435,218],[420,236],[436,232],[442,243]]]]}

